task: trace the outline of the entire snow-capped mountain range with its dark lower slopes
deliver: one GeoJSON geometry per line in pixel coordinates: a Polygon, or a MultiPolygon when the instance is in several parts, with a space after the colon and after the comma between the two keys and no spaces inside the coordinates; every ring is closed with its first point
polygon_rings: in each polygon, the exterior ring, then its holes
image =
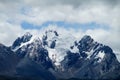
{"type": "Polygon", "coordinates": [[[89,35],[77,40],[55,30],[47,30],[42,37],[27,32],[10,47],[0,44],[0,59],[1,71],[33,80],[120,77],[120,63],[113,50],[89,35]]]}

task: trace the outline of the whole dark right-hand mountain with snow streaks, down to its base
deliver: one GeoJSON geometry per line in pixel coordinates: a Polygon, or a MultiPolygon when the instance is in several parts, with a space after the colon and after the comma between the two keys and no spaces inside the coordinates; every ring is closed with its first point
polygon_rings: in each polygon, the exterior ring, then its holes
{"type": "Polygon", "coordinates": [[[67,72],[71,73],[71,76],[82,79],[92,79],[93,77],[99,79],[108,72],[119,70],[119,62],[109,46],[97,43],[87,35],[78,43],[76,42],[75,46],[79,52],[69,51],[63,61],[64,64],[67,64],[65,68],[67,72]]]}

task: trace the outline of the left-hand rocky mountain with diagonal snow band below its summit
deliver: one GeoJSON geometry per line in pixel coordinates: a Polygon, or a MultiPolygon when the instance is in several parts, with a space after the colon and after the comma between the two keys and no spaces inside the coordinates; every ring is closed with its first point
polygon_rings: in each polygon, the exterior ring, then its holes
{"type": "Polygon", "coordinates": [[[20,77],[32,77],[33,80],[36,77],[42,80],[55,80],[49,68],[53,68],[53,63],[48,56],[48,51],[42,45],[39,37],[30,37],[30,33],[24,34],[20,39],[24,37],[24,40],[18,41],[20,45],[14,47],[16,39],[11,46],[12,50],[21,59],[16,66],[16,75],[20,77]],[[27,39],[29,38],[29,39],[27,39]]]}

